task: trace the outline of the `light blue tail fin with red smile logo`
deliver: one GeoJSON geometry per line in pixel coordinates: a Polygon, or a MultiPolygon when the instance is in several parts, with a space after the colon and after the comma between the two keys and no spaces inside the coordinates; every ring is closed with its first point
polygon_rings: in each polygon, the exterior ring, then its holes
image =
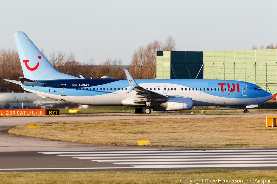
{"type": "Polygon", "coordinates": [[[79,79],[57,71],[22,31],[14,31],[24,78],[30,80],[79,79]]]}

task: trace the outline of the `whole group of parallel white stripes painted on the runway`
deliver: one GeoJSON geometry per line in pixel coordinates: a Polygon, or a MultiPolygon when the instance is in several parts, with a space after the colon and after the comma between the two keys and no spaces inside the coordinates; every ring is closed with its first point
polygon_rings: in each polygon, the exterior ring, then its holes
{"type": "MultiPolygon", "coordinates": [[[[213,150],[134,150],[39,152],[76,159],[90,159],[128,167],[90,167],[86,169],[143,168],[223,168],[277,167],[277,149],[213,150]]],[[[55,168],[53,168],[55,169],[55,168]]],[[[68,168],[65,168],[68,169],[68,168]]],[[[75,168],[84,169],[84,168],[75,168]]],[[[20,169],[18,169],[20,170],[20,169]]]]}

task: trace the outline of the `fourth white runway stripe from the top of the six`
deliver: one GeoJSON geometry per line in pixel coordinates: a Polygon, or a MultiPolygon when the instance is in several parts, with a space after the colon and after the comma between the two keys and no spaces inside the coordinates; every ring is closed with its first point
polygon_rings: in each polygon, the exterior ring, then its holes
{"type": "Polygon", "coordinates": [[[155,161],[208,161],[208,160],[277,160],[273,158],[216,158],[216,159],[120,159],[120,160],[91,160],[95,162],[155,162],[155,161]]]}

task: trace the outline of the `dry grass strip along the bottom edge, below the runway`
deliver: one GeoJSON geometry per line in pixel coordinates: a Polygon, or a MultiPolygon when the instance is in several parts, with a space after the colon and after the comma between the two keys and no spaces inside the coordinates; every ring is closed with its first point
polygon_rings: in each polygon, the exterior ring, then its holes
{"type": "MultiPolygon", "coordinates": [[[[46,184],[46,183],[122,183],[122,184],[160,184],[181,183],[180,179],[266,179],[277,180],[277,171],[274,170],[226,170],[205,169],[187,171],[103,171],[103,172],[0,172],[1,184],[46,184]]],[[[182,180],[183,181],[183,180],[182,180]]],[[[190,182],[189,182],[190,183],[190,182]]],[[[196,182],[192,182],[196,183],[196,182]]],[[[236,182],[232,182],[236,183],[236,182]]],[[[237,182],[241,183],[241,182],[237,182]]],[[[261,183],[261,182],[255,182],[261,183]]],[[[265,182],[268,183],[268,182],[265,182]]],[[[201,184],[201,183],[200,183],[201,184]]]]}

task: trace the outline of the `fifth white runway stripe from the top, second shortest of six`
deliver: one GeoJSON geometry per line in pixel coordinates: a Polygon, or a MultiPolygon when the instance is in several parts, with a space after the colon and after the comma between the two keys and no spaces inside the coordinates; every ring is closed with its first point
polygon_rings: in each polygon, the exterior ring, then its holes
{"type": "MultiPolygon", "coordinates": [[[[155,164],[206,164],[206,163],[223,163],[222,161],[199,161],[199,162],[111,162],[118,165],[155,165],[155,164]]],[[[277,160],[263,160],[263,161],[224,161],[224,163],[277,163],[277,160]]]]}

